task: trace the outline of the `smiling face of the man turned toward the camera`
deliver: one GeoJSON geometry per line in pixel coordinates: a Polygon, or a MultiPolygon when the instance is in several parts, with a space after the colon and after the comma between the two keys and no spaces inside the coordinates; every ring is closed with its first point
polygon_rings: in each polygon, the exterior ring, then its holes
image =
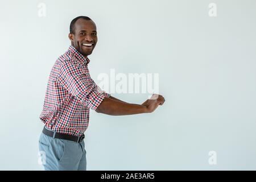
{"type": "Polygon", "coordinates": [[[97,43],[96,24],[92,20],[78,19],[75,23],[75,34],[69,34],[71,45],[82,55],[90,55],[97,43]]]}

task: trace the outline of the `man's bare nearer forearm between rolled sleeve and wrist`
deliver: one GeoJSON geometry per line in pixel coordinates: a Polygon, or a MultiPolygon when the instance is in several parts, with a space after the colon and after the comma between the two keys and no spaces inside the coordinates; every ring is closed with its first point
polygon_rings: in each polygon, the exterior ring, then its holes
{"type": "Polygon", "coordinates": [[[120,102],[112,98],[105,97],[96,109],[97,113],[108,115],[131,115],[146,113],[146,107],[139,104],[129,104],[120,102]]]}

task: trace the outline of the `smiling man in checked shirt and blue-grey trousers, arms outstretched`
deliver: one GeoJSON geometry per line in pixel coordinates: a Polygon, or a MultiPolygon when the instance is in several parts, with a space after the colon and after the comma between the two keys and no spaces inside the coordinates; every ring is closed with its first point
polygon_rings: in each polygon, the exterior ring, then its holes
{"type": "Polygon", "coordinates": [[[163,105],[163,96],[143,104],[129,104],[102,91],[88,70],[88,55],[97,43],[96,24],[78,16],[70,24],[71,46],[53,65],[40,119],[45,123],[39,151],[46,170],[86,170],[84,132],[89,109],[109,115],[152,113],[163,105]]]}

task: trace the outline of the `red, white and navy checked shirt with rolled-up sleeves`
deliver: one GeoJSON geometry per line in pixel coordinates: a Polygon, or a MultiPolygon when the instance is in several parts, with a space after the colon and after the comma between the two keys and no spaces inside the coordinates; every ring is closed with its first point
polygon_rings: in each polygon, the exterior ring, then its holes
{"type": "Polygon", "coordinates": [[[73,46],[56,60],[40,114],[48,129],[81,136],[88,127],[89,108],[96,110],[110,96],[90,77],[89,61],[73,46]]]}

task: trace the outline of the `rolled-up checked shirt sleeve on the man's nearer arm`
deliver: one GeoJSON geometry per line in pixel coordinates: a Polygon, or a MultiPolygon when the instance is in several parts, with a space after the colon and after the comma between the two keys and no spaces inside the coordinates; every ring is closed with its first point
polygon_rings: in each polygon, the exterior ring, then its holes
{"type": "Polygon", "coordinates": [[[83,72],[81,68],[68,61],[61,65],[58,79],[72,96],[92,110],[96,110],[104,98],[110,96],[95,84],[89,73],[83,72]]]}

